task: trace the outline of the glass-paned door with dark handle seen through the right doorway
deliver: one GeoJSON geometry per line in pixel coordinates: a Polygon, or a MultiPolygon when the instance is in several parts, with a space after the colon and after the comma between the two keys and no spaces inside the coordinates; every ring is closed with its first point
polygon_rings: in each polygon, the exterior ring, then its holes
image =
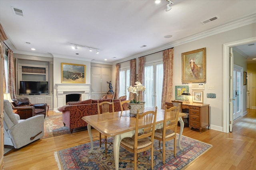
{"type": "Polygon", "coordinates": [[[241,97],[242,97],[242,88],[241,88],[241,81],[242,80],[242,69],[238,66],[234,66],[233,70],[233,96],[234,99],[232,102],[233,106],[233,120],[237,119],[241,116],[242,109],[241,109],[241,97]]]}

